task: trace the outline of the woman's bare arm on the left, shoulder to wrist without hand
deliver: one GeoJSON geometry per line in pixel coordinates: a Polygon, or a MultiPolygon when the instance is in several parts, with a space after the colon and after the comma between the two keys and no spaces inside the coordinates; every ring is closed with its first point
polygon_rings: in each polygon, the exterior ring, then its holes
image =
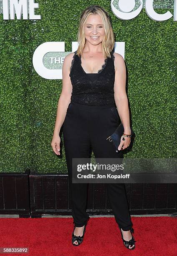
{"type": "Polygon", "coordinates": [[[70,68],[71,68],[71,61],[73,59],[73,54],[68,54],[64,61],[63,61],[63,68],[62,68],[62,91],[61,95],[58,100],[58,108],[56,114],[56,123],[54,128],[54,134],[59,134],[61,126],[66,117],[66,111],[68,105],[71,101],[71,92],[72,92],[72,84],[71,79],[69,77],[70,68]]]}

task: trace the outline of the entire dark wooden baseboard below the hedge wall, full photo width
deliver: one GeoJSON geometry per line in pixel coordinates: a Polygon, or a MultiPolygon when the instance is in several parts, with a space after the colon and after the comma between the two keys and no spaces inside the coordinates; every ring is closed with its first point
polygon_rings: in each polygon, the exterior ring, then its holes
{"type": "MultiPolygon", "coordinates": [[[[177,215],[177,184],[125,184],[131,215],[177,215]]],[[[113,215],[105,184],[88,184],[89,215],[113,215]]],[[[0,173],[0,214],[71,215],[68,174],[0,173]]]]}

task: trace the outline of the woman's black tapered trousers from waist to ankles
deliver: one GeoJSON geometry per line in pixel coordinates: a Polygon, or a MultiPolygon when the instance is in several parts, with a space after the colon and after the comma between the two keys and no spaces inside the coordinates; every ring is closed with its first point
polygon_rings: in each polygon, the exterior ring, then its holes
{"type": "MultiPolygon", "coordinates": [[[[72,216],[76,227],[89,219],[86,212],[87,183],[72,183],[72,158],[122,158],[106,140],[117,128],[119,114],[116,105],[90,106],[76,102],[68,105],[63,123],[63,143],[72,200],[72,216]]],[[[116,223],[122,230],[130,230],[131,217],[124,183],[105,183],[116,223]]]]}

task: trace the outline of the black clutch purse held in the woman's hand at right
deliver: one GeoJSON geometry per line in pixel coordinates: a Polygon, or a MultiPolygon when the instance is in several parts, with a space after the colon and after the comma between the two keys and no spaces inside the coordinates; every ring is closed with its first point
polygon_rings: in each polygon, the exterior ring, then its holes
{"type": "MultiPolygon", "coordinates": [[[[132,130],[132,128],[130,129],[131,129],[131,140],[132,140],[132,138],[135,137],[135,133],[132,130]]],[[[108,138],[106,138],[106,140],[109,139],[109,141],[113,144],[117,153],[120,152],[120,150],[118,150],[118,146],[121,142],[121,136],[123,133],[124,133],[124,126],[122,123],[120,123],[120,125],[116,128],[116,131],[113,134],[111,134],[108,138]]]]}

